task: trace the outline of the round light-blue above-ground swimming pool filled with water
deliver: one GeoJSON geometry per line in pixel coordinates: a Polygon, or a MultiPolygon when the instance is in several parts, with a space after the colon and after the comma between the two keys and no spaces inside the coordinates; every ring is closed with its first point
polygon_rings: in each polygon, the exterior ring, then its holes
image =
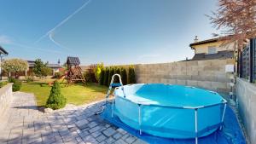
{"type": "Polygon", "coordinates": [[[114,95],[113,114],[140,133],[197,141],[221,128],[224,120],[226,101],[205,89],[132,84],[115,89],[114,95]]]}

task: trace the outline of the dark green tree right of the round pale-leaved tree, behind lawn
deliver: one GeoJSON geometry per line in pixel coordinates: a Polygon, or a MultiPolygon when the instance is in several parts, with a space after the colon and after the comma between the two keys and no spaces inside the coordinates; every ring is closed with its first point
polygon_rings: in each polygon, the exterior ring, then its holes
{"type": "Polygon", "coordinates": [[[44,63],[41,59],[35,60],[35,65],[33,68],[33,72],[39,78],[47,76],[49,73],[49,69],[47,69],[48,63],[44,63]]]}

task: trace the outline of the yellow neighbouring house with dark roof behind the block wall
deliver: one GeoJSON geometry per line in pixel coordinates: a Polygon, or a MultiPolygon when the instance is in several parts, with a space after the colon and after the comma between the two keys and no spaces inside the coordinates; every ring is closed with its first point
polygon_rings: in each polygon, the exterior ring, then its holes
{"type": "Polygon", "coordinates": [[[198,41],[195,36],[195,42],[189,44],[191,49],[195,50],[195,55],[191,60],[213,60],[213,59],[233,59],[235,52],[235,43],[227,43],[219,38],[211,38],[198,41]]]}

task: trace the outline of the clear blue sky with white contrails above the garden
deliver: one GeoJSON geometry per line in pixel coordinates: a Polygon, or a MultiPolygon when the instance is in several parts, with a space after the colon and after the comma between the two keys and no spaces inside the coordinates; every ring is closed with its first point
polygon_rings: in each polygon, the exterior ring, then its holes
{"type": "Polygon", "coordinates": [[[217,0],[0,0],[8,58],[84,65],[158,63],[193,56],[195,35],[216,32],[205,14],[217,0]]]}

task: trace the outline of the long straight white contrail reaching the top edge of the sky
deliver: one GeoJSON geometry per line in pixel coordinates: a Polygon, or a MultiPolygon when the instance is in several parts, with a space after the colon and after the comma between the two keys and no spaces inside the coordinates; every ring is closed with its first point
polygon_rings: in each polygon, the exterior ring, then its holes
{"type": "MultiPolygon", "coordinates": [[[[79,13],[79,11],[81,11],[82,9],[84,9],[85,6],[87,6],[90,3],[91,0],[88,0],[87,2],[85,2],[79,9],[75,10],[72,14],[68,15],[66,19],[62,20],[58,25],[56,25],[55,27],[53,27],[52,29],[50,29],[48,32],[46,32],[43,36],[39,37],[38,40],[36,40],[34,43],[38,43],[40,42],[44,37],[49,36],[49,34],[51,32],[54,32],[56,28],[62,26],[63,24],[65,24],[67,22],[67,20],[71,19],[73,17],[73,15],[79,13]]],[[[49,37],[50,38],[50,37],[49,37]]]]}

